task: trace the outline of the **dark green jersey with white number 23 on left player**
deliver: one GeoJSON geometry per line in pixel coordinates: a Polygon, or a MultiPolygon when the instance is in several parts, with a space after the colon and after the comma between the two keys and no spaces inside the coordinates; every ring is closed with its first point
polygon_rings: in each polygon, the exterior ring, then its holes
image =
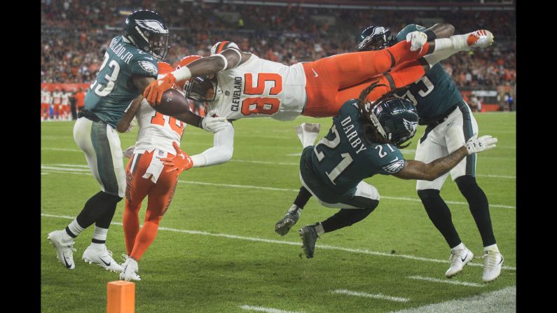
{"type": "Polygon", "coordinates": [[[116,36],[104,53],[97,79],[91,83],[85,95],[85,109],[116,128],[125,109],[141,93],[135,87],[132,77],[156,79],[157,74],[155,57],[139,50],[123,36],[116,36]]]}

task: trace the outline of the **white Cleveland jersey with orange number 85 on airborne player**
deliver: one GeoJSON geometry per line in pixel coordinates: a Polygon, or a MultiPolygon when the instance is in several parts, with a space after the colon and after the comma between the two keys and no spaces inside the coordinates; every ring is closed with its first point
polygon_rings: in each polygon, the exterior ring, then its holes
{"type": "Polygon", "coordinates": [[[217,73],[216,79],[222,93],[214,102],[208,102],[208,116],[294,120],[305,106],[301,63],[287,66],[252,54],[238,67],[217,73]]]}

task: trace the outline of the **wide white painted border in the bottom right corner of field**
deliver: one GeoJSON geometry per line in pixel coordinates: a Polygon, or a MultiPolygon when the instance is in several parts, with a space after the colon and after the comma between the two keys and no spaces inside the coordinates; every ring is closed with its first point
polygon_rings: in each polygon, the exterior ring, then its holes
{"type": "Polygon", "coordinates": [[[497,291],[474,295],[472,297],[448,300],[422,307],[401,309],[391,313],[493,313],[516,312],[516,286],[509,286],[497,291]]]}

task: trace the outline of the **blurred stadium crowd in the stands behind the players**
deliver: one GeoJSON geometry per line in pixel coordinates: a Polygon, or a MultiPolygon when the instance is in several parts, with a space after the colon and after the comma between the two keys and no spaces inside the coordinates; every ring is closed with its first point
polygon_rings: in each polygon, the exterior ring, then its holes
{"type": "Polygon", "coordinates": [[[411,23],[430,27],[448,22],[455,34],[489,29],[495,35],[492,47],[459,53],[441,64],[462,90],[499,90],[500,102],[506,93],[512,97],[516,86],[515,11],[394,11],[160,0],[42,0],[41,82],[93,81],[111,38],[121,34],[126,16],[140,8],[160,13],[170,28],[166,60],[170,64],[186,55],[208,56],[212,45],[224,40],[264,59],[295,64],[354,52],[357,37],[369,25],[388,27],[394,35],[411,23]]]}

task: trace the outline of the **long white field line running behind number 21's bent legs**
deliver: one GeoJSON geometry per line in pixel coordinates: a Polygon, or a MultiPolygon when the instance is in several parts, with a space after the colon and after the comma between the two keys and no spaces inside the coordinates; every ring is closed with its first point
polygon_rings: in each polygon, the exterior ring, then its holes
{"type": "MultiPolygon", "coordinates": [[[[64,172],[67,174],[85,174],[85,172],[89,172],[89,170],[85,169],[75,169],[75,168],[67,168],[67,167],[48,167],[45,165],[41,165],[41,169],[47,172],[54,172],[60,173],[64,172]]],[[[90,173],[87,173],[90,174],[90,173]]],[[[259,189],[259,190],[275,190],[275,191],[291,191],[291,192],[298,192],[298,189],[292,188],[275,188],[275,187],[261,187],[261,186],[250,186],[250,185],[236,185],[231,183],[206,183],[203,181],[178,181],[179,183],[189,183],[191,185],[205,185],[205,186],[218,186],[218,187],[231,187],[231,188],[247,188],[247,189],[259,189]]],[[[401,201],[413,201],[413,202],[421,202],[418,198],[411,198],[411,197],[390,197],[387,195],[381,195],[383,199],[388,200],[401,200],[401,201]]],[[[460,205],[468,205],[467,202],[458,202],[458,201],[445,201],[448,204],[460,204],[460,205]]],[[[504,209],[516,209],[516,207],[511,205],[503,205],[503,204],[490,204],[490,207],[501,207],[504,209]]]]}

